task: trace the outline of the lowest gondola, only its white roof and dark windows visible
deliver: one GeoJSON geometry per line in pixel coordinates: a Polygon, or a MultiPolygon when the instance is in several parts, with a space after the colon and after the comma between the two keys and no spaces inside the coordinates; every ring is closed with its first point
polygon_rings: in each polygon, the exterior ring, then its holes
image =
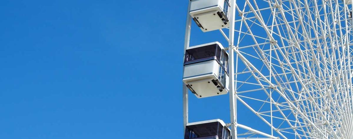
{"type": "Polygon", "coordinates": [[[184,139],[232,139],[231,130],[220,120],[186,124],[184,139]]]}

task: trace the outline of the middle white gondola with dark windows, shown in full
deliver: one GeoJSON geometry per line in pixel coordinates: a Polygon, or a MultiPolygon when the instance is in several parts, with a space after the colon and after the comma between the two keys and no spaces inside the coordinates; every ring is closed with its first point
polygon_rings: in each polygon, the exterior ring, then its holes
{"type": "Polygon", "coordinates": [[[183,81],[197,98],[228,93],[228,53],[219,42],[186,49],[183,81]]]}

